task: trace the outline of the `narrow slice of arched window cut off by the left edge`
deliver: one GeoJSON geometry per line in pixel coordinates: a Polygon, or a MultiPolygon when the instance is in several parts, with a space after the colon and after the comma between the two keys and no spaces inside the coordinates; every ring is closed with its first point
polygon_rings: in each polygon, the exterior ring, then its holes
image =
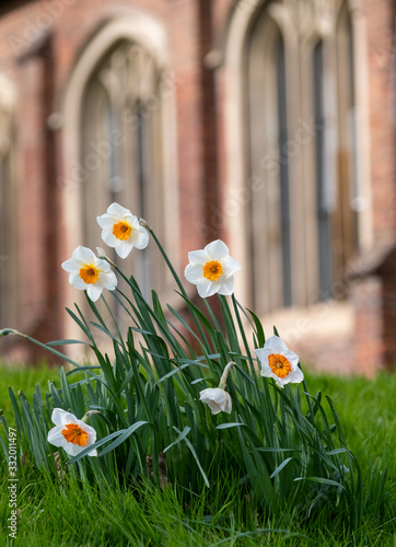
{"type": "Polygon", "coordinates": [[[0,326],[13,326],[18,310],[13,97],[0,79],[0,326]]]}

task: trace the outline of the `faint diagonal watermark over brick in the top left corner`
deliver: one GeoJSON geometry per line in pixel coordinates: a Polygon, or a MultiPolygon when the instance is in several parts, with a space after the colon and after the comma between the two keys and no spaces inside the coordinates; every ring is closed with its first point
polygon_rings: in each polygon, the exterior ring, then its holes
{"type": "Polygon", "coordinates": [[[13,54],[19,57],[25,53],[43,34],[59,20],[69,5],[77,0],[44,0],[39,3],[40,11],[32,18],[25,18],[21,34],[9,34],[7,37],[13,54]]]}

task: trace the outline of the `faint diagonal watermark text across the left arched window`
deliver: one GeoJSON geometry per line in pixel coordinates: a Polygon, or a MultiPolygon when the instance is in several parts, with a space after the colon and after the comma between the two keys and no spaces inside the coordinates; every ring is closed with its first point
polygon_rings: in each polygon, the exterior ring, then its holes
{"type": "MultiPolygon", "coordinates": [[[[100,142],[89,142],[84,156],[81,160],[75,158],[72,160],[70,176],[57,178],[57,184],[61,189],[75,188],[97,173],[104,162],[110,161],[115,150],[125,144],[127,132],[129,135],[131,131],[136,132],[142,121],[149,119],[161,107],[162,101],[175,93],[177,84],[178,80],[172,72],[163,73],[155,92],[144,97],[143,107],[138,103],[125,107],[119,119],[120,128],[112,129],[107,138],[100,142]]],[[[123,189],[124,181],[121,177],[115,177],[109,184],[113,190],[119,191],[123,189]]]]}

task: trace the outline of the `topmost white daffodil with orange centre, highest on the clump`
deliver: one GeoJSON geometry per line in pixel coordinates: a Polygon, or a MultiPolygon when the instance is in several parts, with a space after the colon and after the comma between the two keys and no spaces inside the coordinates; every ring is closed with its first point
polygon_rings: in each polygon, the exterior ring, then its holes
{"type": "Polygon", "coordinates": [[[96,217],[96,220],[102,228],[102,240],[114,247],[119,257],[126,258],[133,247],[141,249],[148,246],[149,233],[129,209],[112,203],[107,212],[96,217]]]}

